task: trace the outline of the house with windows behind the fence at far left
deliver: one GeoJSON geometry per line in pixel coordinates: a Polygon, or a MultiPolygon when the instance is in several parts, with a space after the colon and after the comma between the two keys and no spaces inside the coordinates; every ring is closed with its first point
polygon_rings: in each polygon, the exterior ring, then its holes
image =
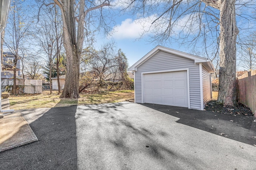
{"type": "MultiPolygon", "coordinates": [[[[3,52],[2,72],[10,72],[13,74],[14,55],[11,52],[3,52]]],[[[16,75],[20,76],[20,60],[17,61],[16,75]]]]}

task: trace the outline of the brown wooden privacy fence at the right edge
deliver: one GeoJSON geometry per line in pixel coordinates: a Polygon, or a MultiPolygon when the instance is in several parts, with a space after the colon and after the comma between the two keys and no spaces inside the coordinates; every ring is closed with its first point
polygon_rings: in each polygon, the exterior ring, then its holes
{"type": "Polygon", "coordinates": [[[244,73],[237,78],[237,95],[240,102],[256,115],[256,70],[244,73]]]}

